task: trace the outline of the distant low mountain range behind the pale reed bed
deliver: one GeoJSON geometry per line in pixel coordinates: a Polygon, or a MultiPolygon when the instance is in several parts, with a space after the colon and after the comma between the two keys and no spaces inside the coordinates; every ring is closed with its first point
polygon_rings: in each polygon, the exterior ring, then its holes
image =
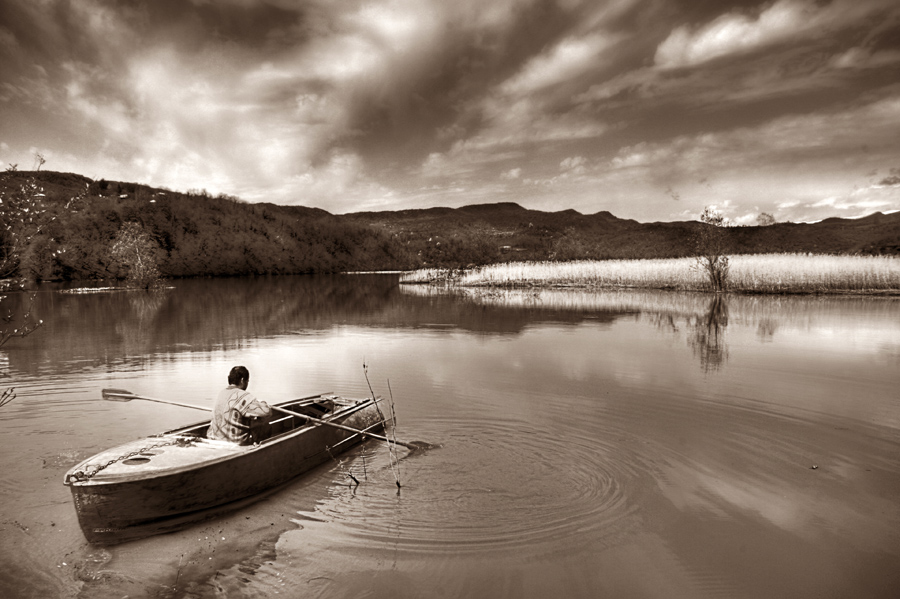
{"type": "MultiPolygon", "coordinates": [[[[609,212],[543,212],[513,203],[359,212],[342,218],[416,242],[452,248],[487,239],[510,259],[670,258],[691,255],[698,221],[640,223],[609,212]]],[[[817,223],[729,227],[733,253],[900,254],[900,212],[817,223]]],[[[433,251],[433,250],[432,250],[433,251]]]]}

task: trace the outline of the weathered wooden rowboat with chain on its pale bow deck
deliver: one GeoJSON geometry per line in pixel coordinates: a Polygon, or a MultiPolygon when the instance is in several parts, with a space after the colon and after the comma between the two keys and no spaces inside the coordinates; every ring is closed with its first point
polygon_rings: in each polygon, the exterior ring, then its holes
{"type": "Polygon", "coordinates": [[[257,445],[207,439],[207,419],[102,451],[73,467],[64,482],[85,538],[113,545],[233,511],[364,438],[302,415],[366,432],[385,424],[371,398],[320,395],[273,405],[298,416],[274,420],[272,436],[257,445]]]}

